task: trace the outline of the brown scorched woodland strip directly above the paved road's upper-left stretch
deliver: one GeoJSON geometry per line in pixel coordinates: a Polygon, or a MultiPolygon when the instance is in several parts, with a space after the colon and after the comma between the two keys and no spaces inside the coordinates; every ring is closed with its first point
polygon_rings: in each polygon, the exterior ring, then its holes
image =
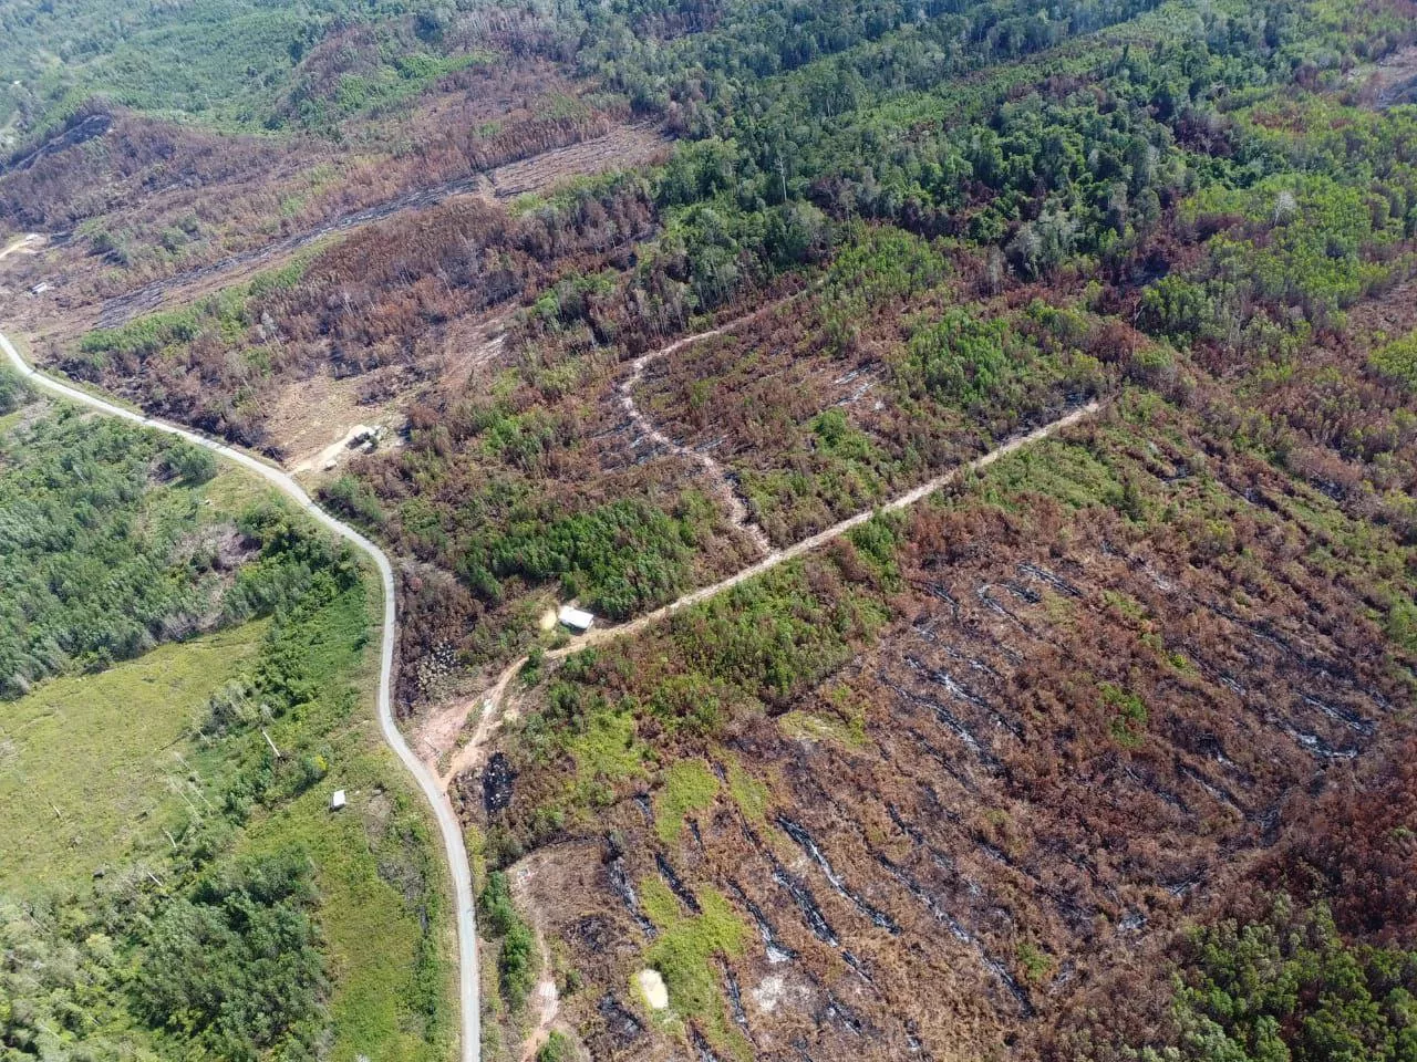
{"type": "Polygon", "coordinates": [[[152,412],[283,456],[268,433],[282,388],[391,368],[432,385],[469,323],[509,313],[564,269],[622,263],[653,215],[633,178],[581,188],[521,218],[453,200],[47,354],[152,412]]]}

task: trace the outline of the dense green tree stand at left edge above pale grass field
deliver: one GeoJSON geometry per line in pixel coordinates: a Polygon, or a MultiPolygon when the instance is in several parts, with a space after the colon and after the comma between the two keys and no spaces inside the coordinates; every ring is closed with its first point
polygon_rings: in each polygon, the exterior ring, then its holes
{"type": "Polygon", "coordinates": [[[207,626],[217,539],[181,544],[214,472],[194,446],[77,411],[0,438],[0,694],[207,626]]]}

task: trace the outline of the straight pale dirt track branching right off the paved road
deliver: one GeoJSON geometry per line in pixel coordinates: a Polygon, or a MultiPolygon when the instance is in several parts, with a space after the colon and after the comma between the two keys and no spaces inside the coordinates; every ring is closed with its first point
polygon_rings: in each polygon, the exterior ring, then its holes
{"type": "MultiPolygon", "coordinates": [[[[703,338],[703,337],[696,336],[693,338],[703,338]]],[[[999,459],[1007,457],[1010,453],[1015,453],[1026,446],[1032,446],[1033,443],[1041,442],[1095,415],[1101,408],[1102,404],[1097,399],[1093,399],[1091,402],[1087,402],[1085,405],[1081,405],[1064,413],[1056,421],[1050,421],[1049,423],[1040,428],[1034,428],[1027,435],[1020,435],[1013,439],[1009,439],[1007,442],[996,446],[988,453],[975,457],[972,462],[955,466],[949,472],[944,472],[939,476],[935,476],[934,479],[921,483],[918,487],[914,487],[905,491],[904,494],[891,498],[879,508],[863,510],[862,513],[847,517],[846,520],[833,524],[832,527],[823,531],[818,531],[815,535],[803,538],[801,542],[795,542],[782,549],[774,549],[761,561],[757,561],[755,564],[748,565],[743,571],[730,575],[727,579],[721,579],[708,586],[700,586],[697,590],[690,590],[682,598],[672,600],[669,605],[663,605],[655,609],[653,612],[646,612],[643,616],[629,620],[628,623],[621,623],[612,627],[594,627],[584,636],[578,637],[571,644],[563,646],[561,649],[553,649],[550,651],[546,651],[541,658],[564,660],[565,657],[580,653],[581,650],[591,649],[594,646],[602,646],[606,641],[614,641],[616,639],[638,634],[650,624],[657,623],[659,620],[666,619],[674,615],[676,612],[682,612],[683,609],[687,609],[691,605],[699,605],[701,602],[706,602],[710,598],[717,598],[720,593],[733,589],[738,583],[747,582],[748,579],[752,579],[758,575],[765,575],[767,572],[772,571],[781,564],[785,564],[786,561],[795,561],[803,554],[809,554],[815,549],[819,549],[828,542],[840,538],[847,531],[860,527],[873,515],[876,515],[876,513],[896,513],[903,508],[910,508],[917,501],[930,497],[941,487],[954,483],[965,472],[979,472],[981,469],[986,469],[999,459]]],[[[449,762],[448,769],[444,772],[442,775],[444,786],[451,786],[453,779],[458,777],[458,775],[478,766],[482,758],[482,752],[486,749],[487,742],[496,732],[497,724],[500,722],[502,702],[503,698],[506,697],[506,691],[512,683],[512,678],[527,664],[529,660],[530,657],[521,657],[520,660],[513,661],[502,671],[502,674],[497,675],[496,684],[493,684],[493,687],[482,698],[469,700],[468,702],[469,705],[482,707],[482,716],[478,721],[478,729],[473,733],[472,739],[466,745],[463,745],[462,749],[458,750],[458,753],[449,762]]]]}

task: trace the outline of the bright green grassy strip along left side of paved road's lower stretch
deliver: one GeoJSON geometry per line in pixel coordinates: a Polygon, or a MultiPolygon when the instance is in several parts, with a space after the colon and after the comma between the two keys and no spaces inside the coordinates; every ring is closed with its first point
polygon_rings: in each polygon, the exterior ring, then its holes
{"type": "MultiPolygon", "coordinates": [[[[366,586],[378,585],[366,575],[366,586]]],[[[313,663],[309,678],[317,688],[353,680],[361,691],[357,700],[323,697],[271,728],[279,748],[315,750],[327,773],[268,817],[254,818],[238,854],[298,845],[315,864],[334,986],[329,1058],[442,1059],[455,1034],[451,882],[436,854],[435,827],[378,733],[377,643],[368,634],[383,605],[370,598],[357,592],[336,599],[300,649],[313,663]],[[329,811],[336,789],[349,800],[337,814],[329,811]]]]}

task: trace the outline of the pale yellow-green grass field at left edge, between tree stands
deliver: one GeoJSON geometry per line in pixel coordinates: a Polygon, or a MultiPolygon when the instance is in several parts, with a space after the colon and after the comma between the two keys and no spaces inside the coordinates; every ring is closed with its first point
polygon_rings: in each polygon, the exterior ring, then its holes
{"type": "Polygon", "coordinates": [[[167,847],[191,811],[179,755],[211,691],[256,651],[264,622],[55,678],[0,708],[0,891],[78,885],[167,847]],[[58,814],[55,814],[58,809],[58,814]]]}

